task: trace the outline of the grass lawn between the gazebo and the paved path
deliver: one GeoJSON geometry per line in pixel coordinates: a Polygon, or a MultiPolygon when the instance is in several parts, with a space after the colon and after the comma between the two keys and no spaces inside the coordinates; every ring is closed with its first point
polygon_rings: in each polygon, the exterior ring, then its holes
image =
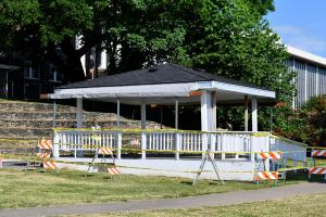
{"type": "MultiPolygon", "coordinates": [[[[266,188],[274,183],[220,182],[190,179],[138,177],[124,175],[111,180],[98,173],[84,180],[84,173],[62,170],[60,174],[0,170],[0,208],[50,206],[59,204],[166,199],[228,191],[266,188]]],[[[290,182],[291,183],[291,182],[290,182]]],[[[279,183],[279,184],[283,184],[279,183]]]]}

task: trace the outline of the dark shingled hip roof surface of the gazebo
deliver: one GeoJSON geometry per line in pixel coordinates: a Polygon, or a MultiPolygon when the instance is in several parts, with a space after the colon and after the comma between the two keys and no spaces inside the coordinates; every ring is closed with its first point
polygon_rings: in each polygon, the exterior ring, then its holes
{"type": "Polygon", "coordinates": [[[196,71],[170,63],[138,71],[130,71],[127,73],[104,76],[96,78],[93,80],[73,82],[70,85],[61,86],[58,89],[178,84],[212,80],[264,89],[254,85],[228,79],[203,71],[196,71]]]}

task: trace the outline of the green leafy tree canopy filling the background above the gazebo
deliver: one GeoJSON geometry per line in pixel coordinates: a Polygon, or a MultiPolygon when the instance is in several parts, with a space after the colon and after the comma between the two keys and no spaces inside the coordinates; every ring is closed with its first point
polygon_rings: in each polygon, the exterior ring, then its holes
{"type": "Polygon", "coordinates": [[[79,59],[98,46],[108,51],[108,74],[168,61],[289,100],[287,54],[263,18],[273,10],[273,0],[2,0],[0,41],[47,55],[70,81],[84,79],[79,59]]]}

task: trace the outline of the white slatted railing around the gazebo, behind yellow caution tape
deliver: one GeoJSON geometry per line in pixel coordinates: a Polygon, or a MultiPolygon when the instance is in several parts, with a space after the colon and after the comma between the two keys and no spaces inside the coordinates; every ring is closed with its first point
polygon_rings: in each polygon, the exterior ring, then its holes
{"type": "MultiPolygon", "coordinates": [[[[141,157],[147,154],[170,153],[176,159],[189,154],[200,155],[211,148],[215,157],[253,159],[251,152],[269,151],[269,135],[256,136],[252,132],[198,132],[198,131],[140,131],[140,130],[55,130],[53,156],[60,157],[64,151],[73,151],[78,157],[78,151],[95,151],[101,146],[117,150],[117,157],[124,149],[136,149],[141,157]],[[135,137],[134,146],[128,146],[135,137]],[[136,139],[137,138],[137,139],[136,139]],[[140,140],[139,140],[140,138],[140,140]]],[[[137,152],[136,152],[137,153],[137,152]]]]}

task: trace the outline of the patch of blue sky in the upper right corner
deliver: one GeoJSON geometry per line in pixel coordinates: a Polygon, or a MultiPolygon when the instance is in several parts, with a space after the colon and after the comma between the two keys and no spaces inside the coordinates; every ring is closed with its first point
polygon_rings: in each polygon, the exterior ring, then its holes
{"type": "Polygon", "coordinates": [[[266,18],[286,44],[326,58],[326,0],[275,0],[266,18]]]}

